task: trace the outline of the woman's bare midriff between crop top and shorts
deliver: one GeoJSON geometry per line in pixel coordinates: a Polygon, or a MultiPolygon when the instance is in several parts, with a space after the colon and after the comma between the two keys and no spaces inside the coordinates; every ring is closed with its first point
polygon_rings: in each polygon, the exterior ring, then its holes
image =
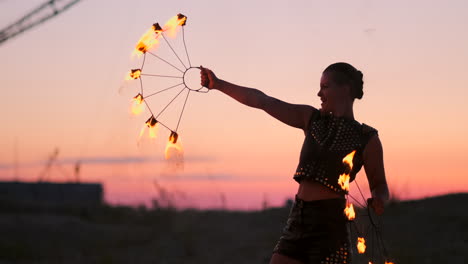
{"type": "Polygon", "coordinates": [[[343,194],[334,192],[313,180],[302,180],[297,190],[297,197],[304,201],[316,201],[333,198],[344,198],[343,194]]]}

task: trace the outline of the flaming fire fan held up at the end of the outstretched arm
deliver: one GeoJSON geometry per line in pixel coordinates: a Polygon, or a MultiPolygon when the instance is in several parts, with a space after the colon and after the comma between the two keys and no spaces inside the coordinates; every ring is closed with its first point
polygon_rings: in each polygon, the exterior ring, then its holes
{"type": "Polygon", "coordinates": [[[190,72],[193,69],[200,69],[199,67],[194,67],[192,66],[192,63],[190,61],[190,56],[187,50],[187,45],[185,42],[185,31],[184,27],[187,22],[187,17],[182,14],[177,14],[173,18],[171,18],[164,26],[161,26],[159,23],[153,24],[153,26],[146,31],[146,33],[140,38],[140,40],[137,42],[135,49],[133,51],[133,56],[138,56],[138,57],[143,57],[142,62],[139,68],[137,69],[132,69],[126,76],[126,81],[128,82],[137,82],[139,86],[139,91],[134,91],[136,94],[133,99],[132,99],[132,105],[131,105],[131,112],[135,115],[139,115],[143,112],[143,110],[146,108],[150,112],[150,116],[148,120],[145,122],[141,132],[139,139],[148,131],[148,136],[150,138],[156,138],[157,134],[157,127],[158,126],[163,126],[164,128],[168,129],[170,131],[170,136],[169,140],[166,146],[166,159],[170,158],[170,150],[175,149],[176,151],[181,151],[182,147],[180,145],[180,140],[179,140],[179,134],[178,134],[178,128],[180,125],[180,121],[182,119],[182,115],[184,114],[185,106],[187,104],[188,98],[190,93],[192,92],[197,92],[197,93],[207,93],[209,90],[206,87],[195,87],[194,84],[189,84],[188,81],[188,72],[190,72]],[[179,56],[179,54],[176,52],[176,49],[173,47],[171,42],[168,40],[168,37],[175,38],[177,31],[181,30],[182,31],[182,43],[183,43],[183,50],[184,50],[184,59],[182,59],[182,56],[179,56]],[[169,60],[168,58],[163,58],[162,55],[156,54],[153,50],[156,49],[159,44],[164,43],[167,48],[172,51],[173,58],[172,61],[169,60]],[[147,55],[151,55],[151,58],[154,60],[158,60],[159,62],[163,63],[166,65],[166,67],[171,68],[173,71],[176,72],[176,74],[156,74],[154,72],[147,73],[145,69],[145,62],[148,61],[147,55]],[[173,61],[176,61],[175,63],[173,61]],[[174,79],[174,80],[179,80],[178,83],[176,84],[171,84],[167,87],[164,87],[163,89],[159,89],[155,92],[147,92],[143,88],[143,79],[146,78],[158,78],[158,79],[174,79]],[[152,110],[152,107],[148,103],[148,98],[154,97],[156,95],[162,95],[162,93],[173,90],[175,88],[179,88],[180,91],[172,98],[169,99],[169,103],[167,103],[162,110],[160,110],[158,113],[154,112],[152,110]],[[174,126],[169,126],[161,120],[159,120],[159,117],[167,110],[167,108],[174,103],[174,101],[183,93],[186,92],[184,104],[182,107],[182,110],[180,112],[180,115],[177,120],[177,125],[174,126]]]}

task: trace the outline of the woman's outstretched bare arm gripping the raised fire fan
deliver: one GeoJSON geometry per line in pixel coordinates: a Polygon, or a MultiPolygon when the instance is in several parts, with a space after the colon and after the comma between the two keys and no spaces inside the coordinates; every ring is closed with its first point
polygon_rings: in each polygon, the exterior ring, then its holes
{"type": "Polygon", "coordinates": [[[208,89],[219,90],[238,102],[262,109],[279,121],[292,127],[307,129],[309,119],[315,108],[309,105],[290,104],[268,96],[254,88],[235,85],[218,79],[209,69],[200,67],[201,84],[208,89]]]}

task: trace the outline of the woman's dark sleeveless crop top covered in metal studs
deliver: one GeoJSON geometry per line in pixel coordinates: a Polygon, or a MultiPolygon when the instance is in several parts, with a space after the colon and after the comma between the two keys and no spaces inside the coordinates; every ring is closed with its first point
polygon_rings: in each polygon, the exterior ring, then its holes
{"type": "Polygon", "coordinates": [[[335,192],[347,193],[338,184],[339,176],[347,169],[343,158],[356,150],[350,172],[351,182],[364,163],[364,148],[377,130],[353,119],[322,114],[316,110],[305,134],[294,179],[297,182],[314,180],[335,192]]]}

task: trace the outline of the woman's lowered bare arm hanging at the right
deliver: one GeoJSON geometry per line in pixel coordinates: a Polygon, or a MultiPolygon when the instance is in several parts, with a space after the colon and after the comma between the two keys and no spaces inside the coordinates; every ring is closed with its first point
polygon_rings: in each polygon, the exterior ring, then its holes
{"type": "Polygon", "coordinates": [[[390,195],[385,178],[383,148],[378,135],[373,136],[364,149],[364,169],[372,193],[370,206],[381,215],[390,195]]]}

